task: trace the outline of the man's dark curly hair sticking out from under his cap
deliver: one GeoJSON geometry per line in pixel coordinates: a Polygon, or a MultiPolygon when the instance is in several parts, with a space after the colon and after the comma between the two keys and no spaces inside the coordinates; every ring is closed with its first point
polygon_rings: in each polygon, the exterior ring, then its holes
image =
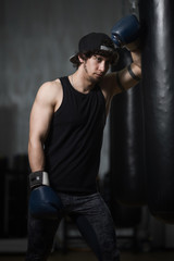
{"type": "Polygon", "coordinates": [[[116,51],[116,49],[114,49],[114,45],[111,40],[105,40],[103,44],[103,46],[105,47],[110,47],[112,48],[114,51],[108,51],[108,50],[89,50],[86,52],[77,52],[76,55],[74,57],[73,60],[73,66],[78,69],[78,66],[80,65],[80,61],[78,59],[78,55],[84,59],[85,61],[89,58],[91,58],[92,55],[101,55],[104,58],[109,58],[110,60],[110,64],[115,64],[119,60],[119,53],[116,51]]]}

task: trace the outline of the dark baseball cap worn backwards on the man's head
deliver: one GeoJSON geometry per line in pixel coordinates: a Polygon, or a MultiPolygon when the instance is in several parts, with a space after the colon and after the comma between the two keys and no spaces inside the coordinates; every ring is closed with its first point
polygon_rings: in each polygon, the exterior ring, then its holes
{"type": "MultiPolygon", "coordinates": [[[[78,52],[104,50],[115,52],[114,44],[111,38],[103,33],[90,33],[84,36],[78,42],[78,52]]],[[[73,63],[76,59],[77,53],[70,58],[73,63]]]]}

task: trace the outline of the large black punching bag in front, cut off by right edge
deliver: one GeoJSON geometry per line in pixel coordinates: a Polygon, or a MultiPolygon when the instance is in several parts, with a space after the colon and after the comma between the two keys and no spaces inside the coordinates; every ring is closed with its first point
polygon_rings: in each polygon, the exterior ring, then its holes
{"type": "Polygon", "coordinates": [[[148,206],[174,223],[174,1],[140,0],[148,206]]]}

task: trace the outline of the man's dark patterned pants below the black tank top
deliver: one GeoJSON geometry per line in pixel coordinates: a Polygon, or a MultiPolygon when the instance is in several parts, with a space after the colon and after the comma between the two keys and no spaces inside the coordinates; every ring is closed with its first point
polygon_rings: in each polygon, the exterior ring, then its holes
{"type": "Polygon", "coordinates": [[[74,196],[59,194],[63,211],[58,220],[28,220],[27,261],[46,261],[63,216],[71,216],[99,261],[119,261],[114,224],[100,194],[74,196]]]}

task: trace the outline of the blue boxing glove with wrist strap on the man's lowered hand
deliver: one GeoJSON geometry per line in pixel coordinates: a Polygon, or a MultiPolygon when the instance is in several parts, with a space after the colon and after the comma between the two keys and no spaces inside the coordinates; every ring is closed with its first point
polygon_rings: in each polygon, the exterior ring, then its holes
{"type": "Polygon", "coordinates": [[[59,196],[49,186],[47,172],[34,172],[29,175],[29,212],[35,219],[58,219],[62,209],[59,196]]]}

